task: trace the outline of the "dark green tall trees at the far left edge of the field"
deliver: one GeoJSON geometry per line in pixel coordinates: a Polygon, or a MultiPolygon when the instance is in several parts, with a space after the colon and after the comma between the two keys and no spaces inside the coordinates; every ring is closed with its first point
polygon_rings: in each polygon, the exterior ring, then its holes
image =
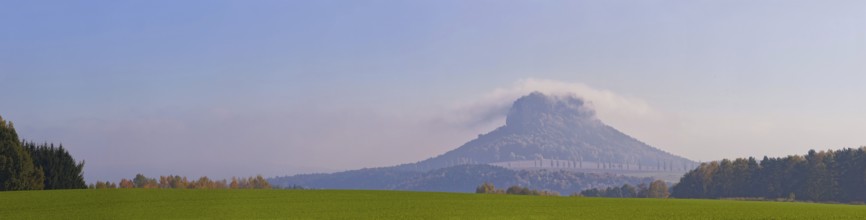
{"type": "Polygon", "coordinates": [[[82,189],[84,162],[63,145],[20,141],[12,122],[0,117],[0,191],[82,189]]]}

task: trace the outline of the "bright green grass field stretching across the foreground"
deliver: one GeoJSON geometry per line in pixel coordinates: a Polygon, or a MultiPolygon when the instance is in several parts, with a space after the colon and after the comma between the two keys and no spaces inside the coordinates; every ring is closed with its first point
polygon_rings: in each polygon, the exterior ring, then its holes
{"type": "Polygon", "coordinates": [[[866,206],[342,190],[0,192],[0,219],[863,219],[866,206]]]}

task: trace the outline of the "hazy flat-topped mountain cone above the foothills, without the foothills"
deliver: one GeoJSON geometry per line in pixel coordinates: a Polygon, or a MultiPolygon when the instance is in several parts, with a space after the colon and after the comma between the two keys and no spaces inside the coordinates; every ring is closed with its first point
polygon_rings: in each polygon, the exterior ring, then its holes
{"type": "Polygon", "coordinates": [[[549,167],[545,166],[547,160],[556,162],[555,167],[587,169],[675,171],[694,166],[691,160],[604,124],[583,99],[575,96],[533,92],[514,101],[505,121],[505,126],[457,149],[400,167],[431,170],[458,164],[497,164],[545,168],[549,167]]]}

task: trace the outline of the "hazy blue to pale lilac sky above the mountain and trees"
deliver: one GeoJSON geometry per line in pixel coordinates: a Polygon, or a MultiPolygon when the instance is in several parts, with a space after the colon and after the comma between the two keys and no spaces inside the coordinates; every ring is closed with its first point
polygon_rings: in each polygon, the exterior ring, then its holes
{"type": "Polygon", "coordinates": [[[694,160],[866,145],[866,1],[0,3],[0,115],[88,181],[413,162],[533,90],[694,160]]]}

